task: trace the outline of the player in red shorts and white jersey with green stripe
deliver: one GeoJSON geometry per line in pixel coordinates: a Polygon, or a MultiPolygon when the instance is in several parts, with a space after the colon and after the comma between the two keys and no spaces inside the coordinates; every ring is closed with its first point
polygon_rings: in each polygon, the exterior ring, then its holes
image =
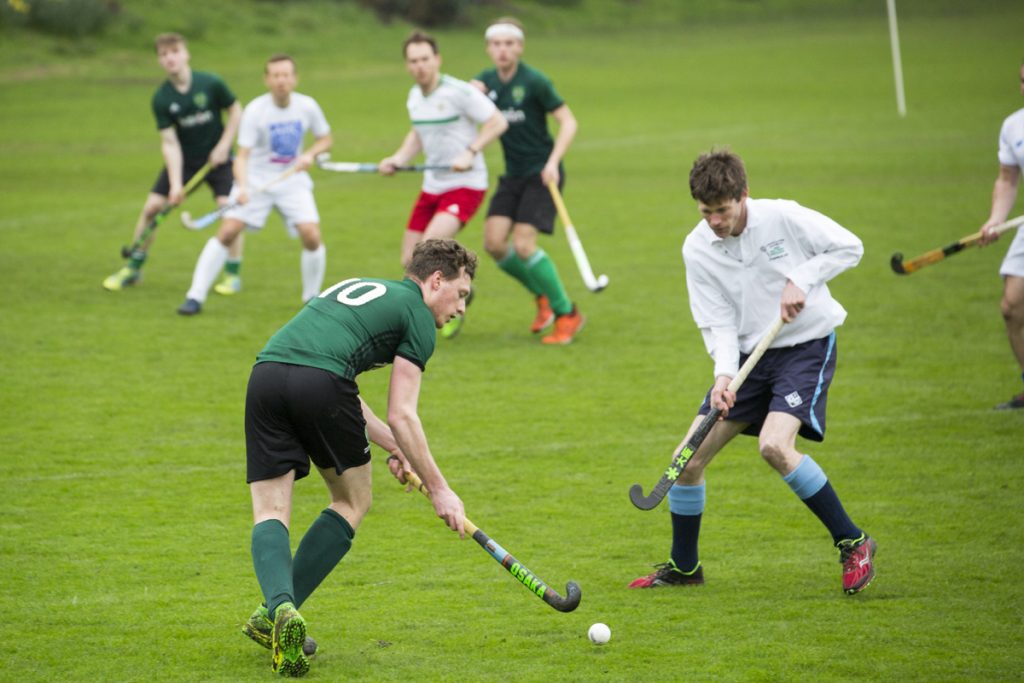
{"type": "MultiPolygon", "coordinates": [[[[417,244],[454,238],[476,213],[487,190],[481,152],[508,129],[508,122],[482,92],[441,74],[441,55],[432,36],[414,32],[402,44],[402,53],[416,81],[406,100],[413,127],[398,150],[381,160],[380,172],[392,175],[421,152],[427,166],[451,169],[424,173],[401,241],[406,266],[417,244]]],[[[454,318],[441,329],[441,336],[454,337],[462,323],[462,316],[454,318]]]]}

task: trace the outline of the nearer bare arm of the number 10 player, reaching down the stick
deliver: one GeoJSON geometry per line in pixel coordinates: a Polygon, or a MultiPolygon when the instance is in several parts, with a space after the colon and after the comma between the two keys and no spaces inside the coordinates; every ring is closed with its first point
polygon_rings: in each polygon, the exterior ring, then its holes
{"type": "Polygon", "coordinates": [[[422,378],[423,371],[416,364],[401,356],[395,357],[388,387],[387,421],[401,452],[430,492],[434,512],[449,528],[457,531],[460,538],[465,538],[462,501],[449,488],[447,481],[434,463],[417,414],[422,378]]]}

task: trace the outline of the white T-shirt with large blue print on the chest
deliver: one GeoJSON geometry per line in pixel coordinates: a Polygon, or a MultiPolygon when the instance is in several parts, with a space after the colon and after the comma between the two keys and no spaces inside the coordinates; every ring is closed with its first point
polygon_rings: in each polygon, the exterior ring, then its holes
{"type": "MultiPolygon", "coordinates": [[[[295,163],[302,152],[306,131],[314,137],[331,132],[319,104],[308,95],[293,92],[288,106],[282,108],[267,92],[246,105],[239,125],[239,146],[251,150],[250,189],[272,180],[295,163]]],[[[304,177],[311,182],[305,172],[293,177],[304,177]]]]}

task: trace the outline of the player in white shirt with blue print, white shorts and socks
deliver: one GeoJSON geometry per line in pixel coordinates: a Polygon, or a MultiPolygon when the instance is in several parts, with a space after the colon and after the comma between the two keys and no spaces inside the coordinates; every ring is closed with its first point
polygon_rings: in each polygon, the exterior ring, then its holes
{"type": "Polygon", "coordinates": [[[327,250],[321,241],[319,213],[313,199],[313,181],[306,173],[316,155],[331,148],[331,127],[312,97],[295,92],[295,61],[286,54],[271,56],[264,68],[266,94],[246,105],[239,127],[239,154],[234,159],[231,199],[240,206],[224,214],[216,237],[210,238],[196,263],[191,287],[178,308],[195,315],[203,308],[210,286],[227,258],[227,246],[246,226],[258,229],[270,209],[276,209],[291,234],[302,241],[302,300],[319,294],[327,269],[327,250]],[[306,133],[313,143],[305,152],[306,133]],[[288,169],[295,172],[253,193],[288,169]]]}

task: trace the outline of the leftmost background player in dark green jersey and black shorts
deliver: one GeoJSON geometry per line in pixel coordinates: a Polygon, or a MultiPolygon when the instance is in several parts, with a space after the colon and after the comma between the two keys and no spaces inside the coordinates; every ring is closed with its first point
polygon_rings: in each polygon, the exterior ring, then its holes
{"type": "MultiPolygon", "coordinates": [[[[135,223],[134,240],[165,206],[184,200],[184,184],[205,164],[211,170],[206,182],[217,204],[227,203],[231,190],[231,141],[242,120],[242,105],[227,85],[213,74],[195,72],[185,39],[165,33],[156,39],[157,57],[167,73],[167,80],[153,96],[153,113],[160,131],[160,150],[164,168],[150,190],[142,212],[135,223]],[[227,113],[226,125],[222,113],[227,113]]],[[[103,287],[117,292],[134,285],[141,276],[151,237],[132,252],[120,270],[103,280],[103,287]]],[[[224,267],[224,279],[216,287],[220,294],[233,294],[242,287],[239,269],[242,263],[242,237],[231,245],[224,267]]]]}

